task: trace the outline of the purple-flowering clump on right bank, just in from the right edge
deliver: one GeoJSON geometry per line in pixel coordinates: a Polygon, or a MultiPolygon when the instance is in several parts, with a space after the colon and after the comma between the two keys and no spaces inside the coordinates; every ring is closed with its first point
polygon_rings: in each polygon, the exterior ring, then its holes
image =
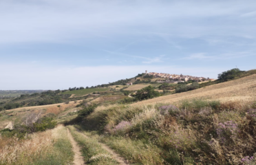
{"type": "Polygon", "coordinates": [[[228,121],[224,123],[220,122],[217,125],[216,129],[217,136],[222,143],[226,142],[228,139],[234,139],[235,137],[237,137],[238,131],[238,125],[233,121],[228,121]]]}

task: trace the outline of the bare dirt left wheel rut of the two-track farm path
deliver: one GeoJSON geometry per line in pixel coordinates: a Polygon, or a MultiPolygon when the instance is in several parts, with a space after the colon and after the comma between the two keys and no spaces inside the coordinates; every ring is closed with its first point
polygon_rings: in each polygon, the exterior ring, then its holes
{"type": "Polygon", "coordinates": [[[85,164],[85,162],[83,161],[82,153],[80,152],[80,147],[78,146],[78,144],[76,143],[76,141],[72,137],[69,129],[67,129],[67,137],[70,138],[70,142],[71,142],[71,144],[73,146],[73,149],[72,149],[73,152],[74,152],[73,164],[74,165],[85,164]]]}

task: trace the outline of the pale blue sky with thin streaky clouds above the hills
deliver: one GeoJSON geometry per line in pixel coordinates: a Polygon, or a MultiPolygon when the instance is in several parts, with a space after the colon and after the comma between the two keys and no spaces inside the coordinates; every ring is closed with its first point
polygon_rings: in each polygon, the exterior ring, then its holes
{"type": "Polygon", "coordinates": [[[0,90],[256,69],[255,0],[0,0],[0,90]]]}

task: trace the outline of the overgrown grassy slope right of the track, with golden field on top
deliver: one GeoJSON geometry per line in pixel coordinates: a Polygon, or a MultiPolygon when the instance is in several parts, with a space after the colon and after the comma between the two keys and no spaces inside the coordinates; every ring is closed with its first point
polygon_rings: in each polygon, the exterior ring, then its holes
{"type": "Polygon", "coordinates": [[[100,141],[132,163],[243,164],[244,157],[256,154],[255,84],[251,75],[127,107],[100,106],[82,127],[103,131],[100,141]],[[163,104],[173,103],[178,110],[161,112],[163,104]]]}

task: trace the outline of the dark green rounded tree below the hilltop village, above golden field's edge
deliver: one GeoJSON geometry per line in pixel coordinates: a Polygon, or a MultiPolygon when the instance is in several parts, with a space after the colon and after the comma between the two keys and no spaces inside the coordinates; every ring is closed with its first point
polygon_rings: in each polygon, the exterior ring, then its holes
{"type": "Polygon", "coordinates": [[[155,98],[158,96],[160,96],[159,92],[155,91],[151,85],[138,90],[136,93],[136,98],[138,100],[146,100],[146,99],[155,98]]]}

